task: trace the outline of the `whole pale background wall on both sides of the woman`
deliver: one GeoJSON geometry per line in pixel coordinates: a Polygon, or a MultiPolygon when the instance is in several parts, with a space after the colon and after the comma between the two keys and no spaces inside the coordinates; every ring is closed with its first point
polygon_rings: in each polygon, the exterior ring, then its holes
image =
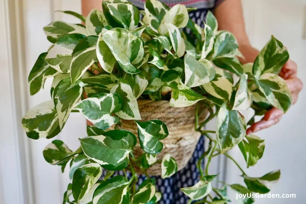
{"type": "MultiPolygon", "coordinates": [[[[299,65],[299,75],[306,76],[306,40],[304,0],[243,0],[246,28],[252,44],[261,48],[271,34],[280,39],[299,65]]],[[[49,97],[50,80],[46,89],[29,97],[27,75],[37,56],[46,51],[50,43],[42,27],[52,20],[77,23],[73,17],[55,10],[80,12],[80,0],[0,0],[0,203],[4,204],[55,204],[62,203],[62,195],[69,182],[67,172],[44,161],[42,150],[50,140],[27,139],[21,129],[21,116],[25,111],[49,97]]],[[[296,200],[259,200],[257,203],[304,203],[305,159],[304,139],[305,91],[282,121],[257,134],[266,139],[264,157],[256,167],[247,172],[254,176],[274,169],[282,170],[282,178],[273,188],[274,193],[296,193],[296,200]]],[[[72,113],[64,131],[57,136],[71,149],[76,149],[78,137],[84,137],[85,123],[82,116],[72,113]]],[[[209,129],[215,124],[209,124],[209,129]]],[[[236,148],[231,151],[244,166],[243,158],[236,148]]],[[[241,182],[239,170],[219,158],[213,168],[226,169],[224,178],[228,183],[241,182]],[[224,166],[226,165],[226,166],[224,166]]],[[[223,170],[222,170],[223,171],[223,170]]],[[[235,194],[231,194],[232,203],[235,194]]]]}

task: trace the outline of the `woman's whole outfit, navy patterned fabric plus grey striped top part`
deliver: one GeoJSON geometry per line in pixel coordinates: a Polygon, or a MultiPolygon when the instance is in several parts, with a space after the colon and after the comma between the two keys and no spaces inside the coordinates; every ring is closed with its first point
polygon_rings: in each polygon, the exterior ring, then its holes
{"type": "MultiPolygon", "coordinates": [[[[129,0],[135,6],[143,9],[144,0],[129,0]]],[[[181,3],[187,7],[197,7],[195,11],[189,12],[189,17],[198,25],[203,27],[203,21],[207,12],[213,11],[215,7],[224,0],[159,0],[166,3],[169,6],[181,3]]],[[[160,176],[152,176],[156,180],[157,191],[160,191],[162,198],[159,201],[160,204],[187,204],[189,201],[188,196],[180,191],[180,188],[189,187],[195,185],[200,180],[200,172],[196,167],[196,163],[200,156],[204,152],[204,137],[201,136],[196,150],[194,151],[192,158],[189,160],[185,168],[178,171],[173,176],[162,179],[160,176]]],[[[204,164],[202,164],[204,165],[204,164]]],[[[124,175],[122,171],[115,172],[113,176],[124,175]]],[[[129,172],[127,176],[131,177],[129,172]]],[[[141,175],[138,179],[137,185],[140,185],[146,179],[145,175],[141,175]]]]}

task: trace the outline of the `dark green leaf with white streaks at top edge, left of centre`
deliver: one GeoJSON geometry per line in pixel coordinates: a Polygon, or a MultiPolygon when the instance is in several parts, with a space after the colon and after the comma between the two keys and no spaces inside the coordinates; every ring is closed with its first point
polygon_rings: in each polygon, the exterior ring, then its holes
{"type": "Polygon", "coordinates": [[[102,2],[103,13],[112,27],[134,30],[139,24],[139,10],[129,2],[102,2]]]}

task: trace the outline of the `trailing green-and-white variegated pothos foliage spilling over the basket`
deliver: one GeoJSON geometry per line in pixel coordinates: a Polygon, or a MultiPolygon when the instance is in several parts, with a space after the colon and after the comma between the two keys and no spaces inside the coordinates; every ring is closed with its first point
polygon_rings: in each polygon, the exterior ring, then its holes
{"type": "MultiPolygon", "coordinates": [[[[142,100],[168,101],[170,107],[178,109],[196,106],[194,129],[208,138],[209,146],[198,161],[200,181],[181,189],[191,201],[228,203],[227,187],[242,194],[269,192],[270,183],[280,178],[279,170],[250,177],[226,152],[238,145],[247,167],[254,166],[263,156],[264,140],[245,135],[254,117],[247,122],[239,111],[251,108],[255,116],[272,106],[284,112],[289,109],[292,98],[278,76],[289,59],[282,43],[272,36],[254,63],[241,65],[237,57],[243,56],[237,40],[230,32],[218,30],[211,12],[201,28],[188,17],[188,11],[194,8],[184,5],[170,9],[157,0],[146,0],[144,10],[139,11],[125,0],[106,0],[102,9],[92,10],[87,17],[64,11],[84,24],[55,21],[44,27],[52,45],[39,55],[28,78],[30,94],[34,95],[43,88],[46,78],[53,77],[51,100],[35,106],[22,119],[29,138],[53,138],[64,128],[70,113],[82,114],[93,124],[87,127],[88,135],[79,138],[77,150],[70,150],[60,140],[43,150],[46,161],[59,165],[62,171],[70,164],[72,182],[63,203],[159,201],[161,194],[146,169],[161,166],[160,175],[166,178],[178,166],[171,154],[156,157],[171,134],[166,126],[169,121],[142,121],[138,108],[142,100]],[[234,82],[233,75],[239,80],[234,82]],[[208,116],[200,120],[203,104],[208,116]],[[216,130],[204,130],[214,117],[216,130]],[[121,128],[125,121],[135,121],[138,139],[121,128]],[[143,153],[133,154],[135,146],[143,153]],[[219,172],[211,174],[209,164],[218,154],[237,164],[245,186],[212,187],[211,181],[219,172]],[[203,169],[201,161],[205,157],[203,169]],[[147,175],[138,187],[136,169],[147,175]],[[118,170],[131,176],[112,177],[118,170]],[[106,175],[101,177],[104,171],[106,175]]],[[[253,198],[244,200],[252,202],[253,198]]]]}

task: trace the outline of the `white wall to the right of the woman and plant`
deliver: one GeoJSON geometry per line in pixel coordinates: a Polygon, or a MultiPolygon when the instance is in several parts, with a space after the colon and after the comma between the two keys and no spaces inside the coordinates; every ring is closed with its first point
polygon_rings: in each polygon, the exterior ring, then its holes
{"type": "MultiPolygon", "coordinates": [[[[260,49],[269,39],[275,35],[287,46],[292,60],[298,64],[298,76],[306,81],[306,40],[303,39],[303,29],[306,14],[305,1],[279,1],[279,0],[244,0],[244,15],[251,43],[260,49]],[[302,3],[304,2],[304,3],[302,3]],[[255,14],[250,17],[249,14],[255,14]]],[[[298,102],[283,116],[282,120],[272,128],[256,133],[265,139],[266,148],[263,158],[255,167],[250,167],[246,172],[250,176],[263,176],[272,170],[281,169],[281,179],[272,188],[275,194],[294,193],[296,199],[258,199],[261,204],[287,204],[304,203],[304,184],[306,167],[304,138],[305,127],[305,89],[300,93],[298,102]]],[[[239,148],[231,151],[234,158],[239,158],[241,166],[245,166],[244,159],[239,148]]],[[[227,162],[227,183],[243,183],[239,169],[231,162],[227,162]]],[[[246,168],[245,168],[246,169],[246,168]]],[[[233,203],[236,194],[232,194],[233,203]]]]}

